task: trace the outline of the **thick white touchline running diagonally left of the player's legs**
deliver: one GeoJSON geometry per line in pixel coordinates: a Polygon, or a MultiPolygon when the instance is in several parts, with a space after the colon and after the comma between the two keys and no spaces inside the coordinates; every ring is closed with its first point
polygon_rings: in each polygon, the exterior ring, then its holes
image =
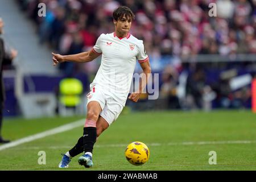
{"type": "Polygon", "coordinates": [[[57,133],[62,133],[64,131],[72,130],[76,127],[82,126],[84,124],[84,122],[85,122],[85,119],[80,119],[79,121],[68,123],[67,125],[62,125],[62,126],[54,128],[54,129],[44,131],[42,133],[38,133],[38,134],[35,134],[35,135],[30,135],[28,137],[24,137],[24,138],[15,140],[13,142],[3,144],[3,145],[0,146],[0,151],[5,150],[6,148],[18,146],[19,144],[31,142],[31,141],[36,140],[36,139],[48,137],[49,135],[54,135],[54,134],[57,134],[57,133]]]}

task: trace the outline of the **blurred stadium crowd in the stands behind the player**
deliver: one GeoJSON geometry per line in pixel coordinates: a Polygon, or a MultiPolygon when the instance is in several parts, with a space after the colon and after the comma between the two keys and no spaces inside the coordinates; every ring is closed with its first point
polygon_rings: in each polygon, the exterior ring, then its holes
{"type": "MultiPolygon", "coordinates": [[[[249,73],[256,65],[232,61],[236,54],[256,53],[256,1],[246,0],[16,0],[38,30],[41,44],[61,54],[88,51],[102,33],[114,31],[112,12],[119,5],[135,14],[131,34],[144,41],[152,71],[160,73],[160,99],[168,108],[250,107],[250,85],[232,90],[233,77],[249,73]],[[46,3],[46,17],[38,16],[38,4],[46,3]],[[209,3],[217,4],[210,17],[209,3]],[[194,55],[222,55],[222,63],[184,62],[194,55]],[[187,72],[185,104],[177,93],[180,75],[187,72]],[[204,102],[205,101],[205,102],[204,102]]],[[[208,56],[205,56],[207,62],[208,56]]],[[[95,74],[99,61],[85,65],[65,63],[60,70],[95,74]]],[[[139,72],[139,67],[136,69],[139,72]]]]}

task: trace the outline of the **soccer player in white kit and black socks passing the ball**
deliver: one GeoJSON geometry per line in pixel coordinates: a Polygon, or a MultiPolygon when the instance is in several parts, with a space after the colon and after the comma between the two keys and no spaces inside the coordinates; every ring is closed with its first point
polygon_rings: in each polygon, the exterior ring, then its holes
{"type": "Polygon", "coordinates": [[[87,94],[84,134],[71,150],[63,154],[60,168],[68,167],[71,158],[81,152],[84,152],[84,155],[79,157],[79,164],[86,168],[93,166],[94,143],[97,137],[117,119],[125,106],[137,60],[143,69],[143,76],[139,82],[139,89],[131,93],[129,99],[137,102],[146,87],[151,68],[143,41],[129,32],[134,18],[133,12],[128,7],[118,7],[113,12],[115,31],[111,34],[101,34],[90,51],[65,56],[52,53],[53,65],[64,61],[85,63],[102,55],[100,68],[87,94]]]}

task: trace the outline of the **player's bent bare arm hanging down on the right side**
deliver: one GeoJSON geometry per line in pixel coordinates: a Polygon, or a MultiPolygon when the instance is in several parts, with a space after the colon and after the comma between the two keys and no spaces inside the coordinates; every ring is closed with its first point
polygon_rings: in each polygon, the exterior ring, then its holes
{"type": "Polygon", "coordinates": [[[139,100],[139,97],[142,94],[142,91],[145,89],[147,82],[148,82],[148,78],[150,78],[150,73],[151,73],[151,67],[150,67],[150,62],[149,59],[147,59],[147,61],[140,63],[141,68],[143,70],[142,76],[139,80],[139,89],[137,90],[137,92],[133,92],[130,94],[129,99],[133,102],[137,102],[139,100]]]}

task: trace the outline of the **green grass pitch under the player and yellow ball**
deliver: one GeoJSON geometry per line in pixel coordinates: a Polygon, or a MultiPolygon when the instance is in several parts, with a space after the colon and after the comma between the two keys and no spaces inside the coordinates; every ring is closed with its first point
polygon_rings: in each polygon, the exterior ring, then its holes
{"type": "MultiPolygon", "coordinates": [[[[5,119],[2,135],[16,140],[77,121],[83,117],[5,119]]],[[[82,127],[23,143],[0,151],[0,170],[255,170],[256,114],[250,111],[150,111],[121,114],[98,138],[94,166],[79,166],[76,156],[69,168],[59,169],[61,152],[68,151],[82,135],[82,127]],[[142,166],[126,161],[130,142],[141,141],[150,149],[142,166]],[[39,151],[46,164],[39,165],[39,151]],[[209,151],[217,164],[210,165],[209,151]]]]}

